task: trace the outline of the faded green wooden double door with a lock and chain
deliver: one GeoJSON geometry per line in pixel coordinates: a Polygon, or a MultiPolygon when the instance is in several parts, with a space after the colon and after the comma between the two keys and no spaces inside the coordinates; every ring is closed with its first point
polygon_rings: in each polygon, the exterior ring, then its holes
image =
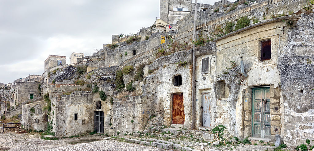
{"type": "Polygon", "coordinates": [[[269,87],[252,88],[252,137],[270,138],[269,87]]]}

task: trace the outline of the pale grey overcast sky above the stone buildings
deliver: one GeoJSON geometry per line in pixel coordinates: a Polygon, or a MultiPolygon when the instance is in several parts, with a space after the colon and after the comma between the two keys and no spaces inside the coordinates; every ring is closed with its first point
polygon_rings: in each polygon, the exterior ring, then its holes
{"type": "Polygon", "coordinates": [[[137,33],[156,17],[159,0],[0,0],[0,82],[41,75],[49,55],[69,64],[73,52],[90,55],[111,35],[137,33]]]}

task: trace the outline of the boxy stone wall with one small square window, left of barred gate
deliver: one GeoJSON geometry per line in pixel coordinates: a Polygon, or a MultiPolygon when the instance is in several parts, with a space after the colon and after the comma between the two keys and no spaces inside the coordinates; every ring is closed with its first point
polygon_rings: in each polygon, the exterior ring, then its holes
{"type": "Polygon", "coordinates": [[[69,137],[94,130],[93,94],[74,91],[61,98],[51,98],[52,131],[57,137],[69,137]],[[78,119],[74,120],[74,114],[78,119]]]}

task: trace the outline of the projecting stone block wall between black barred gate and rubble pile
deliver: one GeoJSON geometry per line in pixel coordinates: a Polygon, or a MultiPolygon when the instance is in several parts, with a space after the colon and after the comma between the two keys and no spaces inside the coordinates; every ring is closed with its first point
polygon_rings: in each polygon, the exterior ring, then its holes
{"type": "Polygon", "coordinates": [[[143,130],[150,115],[146,96],[114,99],[112,109],[115,135],[117,131],[123,135],[143,130]]]}

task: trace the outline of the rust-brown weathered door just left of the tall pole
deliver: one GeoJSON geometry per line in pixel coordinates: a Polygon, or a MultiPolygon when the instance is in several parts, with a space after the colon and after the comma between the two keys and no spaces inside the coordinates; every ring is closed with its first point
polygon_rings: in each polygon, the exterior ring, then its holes
{"type": "Polygon", "coordinates": [[[184,124],[183,94],[173,94],[172,124],[184,124]]]}

